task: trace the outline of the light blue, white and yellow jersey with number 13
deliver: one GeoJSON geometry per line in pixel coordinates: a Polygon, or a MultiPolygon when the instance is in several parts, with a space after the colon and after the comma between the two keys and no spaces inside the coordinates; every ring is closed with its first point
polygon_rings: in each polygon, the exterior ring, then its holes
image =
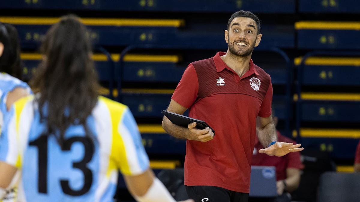
{"type": "Polygon", "coordinates": [[[88,130],[71,125],[62,147],[45,134],[33,96],[16,102],[5,121],[0,161],[21,172],[14,201],[112,201],[118,170],[139,175],[149,168],[129,108],[104,97],[86,120],[88,130]]]}

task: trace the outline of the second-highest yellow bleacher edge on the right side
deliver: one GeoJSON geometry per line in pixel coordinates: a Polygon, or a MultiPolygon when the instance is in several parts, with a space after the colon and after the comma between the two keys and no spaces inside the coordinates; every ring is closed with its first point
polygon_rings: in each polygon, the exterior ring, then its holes
{"type": "MultiPolygon", "coordinates": [[[[295,65],[300,65],[301,57],[294,59],[295,65]]],[[[306,65],[328,65],[328,66],[360,66],[360,58],[330,58],[310,57],[305,61],[306,65]]]]}

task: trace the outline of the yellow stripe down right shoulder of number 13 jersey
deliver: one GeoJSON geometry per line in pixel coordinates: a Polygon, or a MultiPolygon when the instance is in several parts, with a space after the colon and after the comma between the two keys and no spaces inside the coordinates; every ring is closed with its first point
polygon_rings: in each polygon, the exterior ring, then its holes
{"type": "Polygon", "coordinates": [[[131,174],[130,166],[126,160],[126,150],[121,135],[118,132],[119,124],[121,123],[124,112],[128,109],[126,105],[120,104],[108,98],[100,96],[101,101],[109,109],[112,122],[112,144],[111,144],[111,159],[109,161],[109,168],[106,176],[109,178],[112,171],[121,169],[123,174],[131,174]]]}

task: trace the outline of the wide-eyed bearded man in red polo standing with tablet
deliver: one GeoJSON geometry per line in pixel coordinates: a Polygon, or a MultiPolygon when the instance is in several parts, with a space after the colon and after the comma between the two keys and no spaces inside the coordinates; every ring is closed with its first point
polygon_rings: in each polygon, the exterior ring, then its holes
{"type": "MultiPolygon", "coordinates": [[[[189,64],[175,89],[168,111],[206,121],[183,128],[164,117],[162,126],[186,138],[185,185],[196,202],[246,202],[256,131],[268,155],[301,151],[300,144],[277,142],[271,120],[270,76],[251,60],[261,40],[260,20],[248,11],[231,15],[225,30],[227,52],[189,64]],[[256,120],[258,119],[258,126],[256,120]]],[[[209,42],[211,43],[211,42],[209,42]]]]}

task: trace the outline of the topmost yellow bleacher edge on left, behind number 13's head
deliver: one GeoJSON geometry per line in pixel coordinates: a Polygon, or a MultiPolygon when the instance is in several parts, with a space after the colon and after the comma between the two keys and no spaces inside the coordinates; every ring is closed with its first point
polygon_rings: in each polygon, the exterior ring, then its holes
{"type": "MultiPolygon", "coordinates": [[[[0,21],[9,24],[51,25],[60,18],[45,17],[0,17],[0,21]]],[[[131,27],[181,27],[183,19],[126,19],[126,18],[81,18],[89,26],[131,26],[131,27]]]]}

